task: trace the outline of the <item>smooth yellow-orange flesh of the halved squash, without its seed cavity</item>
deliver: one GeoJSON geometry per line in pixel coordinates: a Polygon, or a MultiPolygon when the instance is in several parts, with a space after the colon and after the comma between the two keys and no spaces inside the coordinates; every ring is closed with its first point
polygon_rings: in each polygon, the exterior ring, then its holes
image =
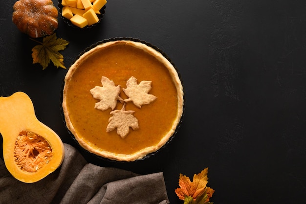
{"type": "Polygon", "coordinates": [[[65,149],[61,138],[36,118],[33,103],[23,92],[0,97],[0,134],[3,137],[5,166],[19,181],[27,183],[40,181],[55,171],[64,160],[65,149]],[[41,165],[36,172],[22,170],[15,161],[16,140],[22,131],[42,136],[52,150],[52,160],[49,159],[48,164],[41,165]]]}

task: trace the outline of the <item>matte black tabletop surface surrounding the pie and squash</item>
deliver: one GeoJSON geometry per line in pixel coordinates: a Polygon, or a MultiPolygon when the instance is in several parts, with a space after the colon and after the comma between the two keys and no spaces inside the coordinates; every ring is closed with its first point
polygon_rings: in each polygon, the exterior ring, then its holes
{"type": "Polygon", "coordinates": [[[88,162],[163,172],[176,204],[179,174],[192,179],[206,167],[215,204],[305,202],[305,0],[109,0],[91,29],[59,18],[67,68],[91,44],[132,37],[163,50],[181,74],[186,109],[174,139],[148,159],[119,163],[87,154],[67,133],[60,111],[67,70],[32,64],[37,43],[12,23],[14,2],[0,7],[0,95],[27,93],[38,119],[88,162]]]}

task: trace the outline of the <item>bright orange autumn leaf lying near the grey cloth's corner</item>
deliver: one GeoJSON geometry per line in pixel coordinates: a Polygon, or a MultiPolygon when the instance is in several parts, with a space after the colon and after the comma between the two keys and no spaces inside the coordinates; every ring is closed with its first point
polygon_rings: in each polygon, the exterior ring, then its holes
{"type": "Polygon", "coordinates": [[[182,174],[179,175],[178,185],[180,188],[175,189],[175,193],[180,200],[185,200],[186,197],[192,197],[194,200],[203,193],[207,194],[207,200],[212,197],[215,190],[207,187],[208,182],[208,168],[202,170],[199,174],[195,174],[193,181],[190,181],[189,177],[182,174]]]}

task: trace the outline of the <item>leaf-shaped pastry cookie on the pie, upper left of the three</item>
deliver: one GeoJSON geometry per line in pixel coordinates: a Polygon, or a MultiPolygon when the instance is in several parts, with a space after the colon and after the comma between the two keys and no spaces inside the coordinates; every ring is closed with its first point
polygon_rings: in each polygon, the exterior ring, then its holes
{"type": "Polygon", "coordinates": [[[123,99],[119,96],[121,92],[121,86],[115,86],[115,83],[109,78],[102,76],[101,83],[103,87],[96,86],[90,90],[91,95],[100,100],[94,106],[95,109],[105,111],[109,108],[114,110],[117,105],[117,100],[123,102],[123,99]]]}

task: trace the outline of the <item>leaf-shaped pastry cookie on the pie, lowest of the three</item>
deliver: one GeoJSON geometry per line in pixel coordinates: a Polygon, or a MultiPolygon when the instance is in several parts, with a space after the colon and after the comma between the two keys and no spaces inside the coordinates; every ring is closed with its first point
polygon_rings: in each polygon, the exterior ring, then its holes
{"type": "Polygon", "coordinates": [[[137,130],[139,128],[138,120],[133,115],[134,113],[134,111],[126,111],[125,104],[123,105],[120,111],[111,111],[110,114],[112,114],[113,116],[109,118],[109,125],[106,131],[110,132],[117,128],[117,134],[124,138],[129,134],[130,127],[133,130],[137,130]]]}

